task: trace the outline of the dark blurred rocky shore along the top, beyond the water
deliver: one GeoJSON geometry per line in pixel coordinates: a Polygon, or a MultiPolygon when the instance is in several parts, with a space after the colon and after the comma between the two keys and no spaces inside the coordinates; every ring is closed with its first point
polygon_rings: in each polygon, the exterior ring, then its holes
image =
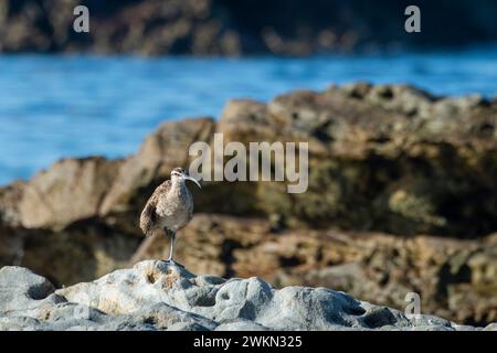
{"type": "Polygon", "coordinates": [[[497,6],[478,3],[419,0],[422,32],[409,35],[404,0],[0,0],[0,51],[307,55],[495,41],[497,6]],[[78,4],[89,33],[73,31],[78,4]]]}

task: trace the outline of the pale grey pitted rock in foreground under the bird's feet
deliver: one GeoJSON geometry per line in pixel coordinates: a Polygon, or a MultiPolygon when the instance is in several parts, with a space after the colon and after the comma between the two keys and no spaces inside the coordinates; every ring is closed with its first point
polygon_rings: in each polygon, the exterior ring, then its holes
{"type": "Polygon", "coordinates": [[[0,330],[480,329],[408,318],[327,288],[275,289],[256,277],[195,276],[157,260],[59,290],[25,268],[0,269],[0,330]]]}

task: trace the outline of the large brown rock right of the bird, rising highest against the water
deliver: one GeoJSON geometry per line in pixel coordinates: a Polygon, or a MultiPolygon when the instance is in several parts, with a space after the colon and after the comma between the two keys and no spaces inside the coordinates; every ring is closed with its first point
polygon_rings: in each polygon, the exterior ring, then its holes
{"type": "Polygon", "coordinates": [[[497,105],[466,100],[363,83],[296,90],[267,105],[230,101],[216,132],[225,143],[309,145],[307,191],[254,183],[244,215],[276,215],[289,227],[470,237],[497,228],[497,105]]]}

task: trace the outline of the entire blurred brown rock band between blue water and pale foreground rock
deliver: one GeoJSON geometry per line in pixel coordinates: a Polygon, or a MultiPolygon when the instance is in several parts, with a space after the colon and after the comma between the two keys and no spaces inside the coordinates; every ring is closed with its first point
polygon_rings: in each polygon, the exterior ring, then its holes
{"type": "MultiPolygon", "coordinates": [[[[306,141],[309,188],[204,182],[178,258],[197,272],[306,284],[457,322],[496,321],[497,101],[366,83],[232,100],[161,125],[125,160],[68,159],[0,190],[0,264],[71,285],[127,264],[138,216],[188,147],[306,141]],[[204,213],[202,215],[201,213],[204,213]],[[188,244],[188,247],[186,246],[188,244]]],[[[160,258],[163,243],[146,257],[160,258]],[[156,252],[156,253],[154,253],[156,252]]]]}

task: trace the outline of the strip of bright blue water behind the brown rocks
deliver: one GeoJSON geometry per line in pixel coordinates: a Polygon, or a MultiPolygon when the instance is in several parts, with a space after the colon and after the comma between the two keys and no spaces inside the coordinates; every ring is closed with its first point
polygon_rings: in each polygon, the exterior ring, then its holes
{"type": "Polygon", "coordinates": [[[0,56],[0,183],[62,157],[128,156],[159,122],[216,117],[230,98],[358,79],[490,97],[497,47],[313,58],[0,56]]]}

